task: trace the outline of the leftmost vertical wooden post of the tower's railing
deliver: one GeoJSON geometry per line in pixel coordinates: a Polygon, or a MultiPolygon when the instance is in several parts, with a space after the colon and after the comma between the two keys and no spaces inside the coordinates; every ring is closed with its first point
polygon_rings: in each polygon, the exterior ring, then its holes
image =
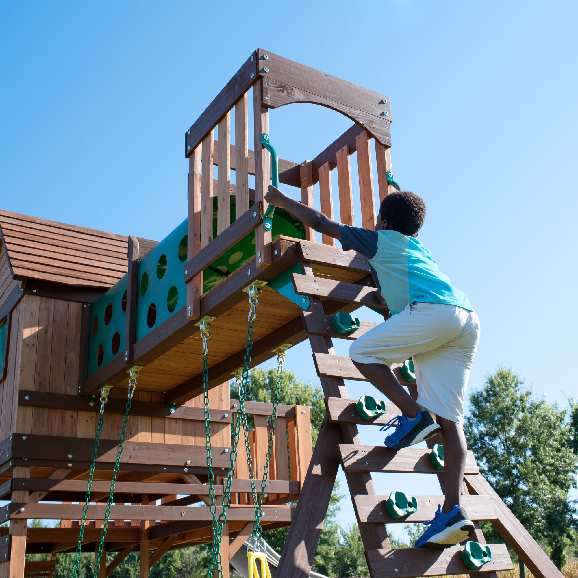
{"type": "MultiPolygon", "coordinates": [[[[201,158],[202,145],[198,146],[188,159],[188,223],[187,258],[201,250],[201,158]]],[[[203,273],[199,273],[187,283],[187,319],[194,320],[201,315],[201,294],[203,273]]]]}

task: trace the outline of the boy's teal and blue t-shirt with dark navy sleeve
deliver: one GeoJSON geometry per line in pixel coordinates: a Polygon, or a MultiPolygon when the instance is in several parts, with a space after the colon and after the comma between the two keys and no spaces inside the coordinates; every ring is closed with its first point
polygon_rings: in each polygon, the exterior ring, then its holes
{"type": "Polygon", "coordinates": [[[473,311],[468,298],[450,284],[416,238],[398,231],[370,231],[344,224],[339,225],[339,234],[344,251],[353,249],[369,261],[392,315],[410,303],[447,303],[473,311]]]}

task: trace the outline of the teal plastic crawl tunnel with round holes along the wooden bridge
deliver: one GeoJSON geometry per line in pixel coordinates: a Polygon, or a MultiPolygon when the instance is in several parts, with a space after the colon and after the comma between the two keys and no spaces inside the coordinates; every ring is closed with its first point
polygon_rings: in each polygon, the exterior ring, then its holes
{"type": "MultiPolygon", "coordinates": [[[[254,205],[250,201],[250,205],[254,205]]],[[[231,223],[235,221],[235,197],[231,196],[231,223]]],[[[149,334],[166,321],[175,311],[186,305],[187,291],[184,283],[184,264],[187,261],[187,221],[185,219],[157,246],[139,260],[136,299],[136,341],[149,334]]],[[[284,209],[277,209],[273,217],[273,238],[285,235],[305,239],[305,228],[297,218],[284,209]]],[[[213,238],[217,236],[217,197],[213,197],[213,238]]],[[[225,251],[203,272],[203,292],[231,275],[247,260],[255,257],[255,231],[243,237],[225,251]]],[[[309,307],[309,298],[295,295],[291,272],[301,272],[295,266],[271,281],[269,286],[279,286],[282,295],[303,309],[309,307]],[[278,279],[279,279],[278,278],[278,279]],[[277,283],[276,283],[277,281],[277,283]],[[292,294],[292,297],[290,295],[292,294]]],[[[90,314],[90,341],[88,345],[88,375],[106,365],[116,355],[124,355],[126,323],[127,275],[92,303],[90,314]]]]}

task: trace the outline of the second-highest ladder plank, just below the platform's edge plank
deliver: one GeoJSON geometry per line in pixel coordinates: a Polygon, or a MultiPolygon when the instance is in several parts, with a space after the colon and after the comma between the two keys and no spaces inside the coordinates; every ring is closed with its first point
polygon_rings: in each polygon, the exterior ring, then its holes
{"type": "Polygon", "coordinates": [[[359,303],[368,307],[387,309],[387,305],[381,305],[375,297],[375,287],[344,283],[323,279],[323,277],[309,277],[307,275],[292,274],[293,287],[299,295],[309,295],[320,299],[331,299],[346,303],[359,303]]]}

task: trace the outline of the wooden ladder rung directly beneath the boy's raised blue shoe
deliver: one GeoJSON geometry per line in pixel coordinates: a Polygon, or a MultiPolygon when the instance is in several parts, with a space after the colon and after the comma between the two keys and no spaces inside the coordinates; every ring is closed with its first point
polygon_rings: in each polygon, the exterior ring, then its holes
{"type": "MultiPolygon", "coordinates": [[[[343,469],[348,472],[407,472],[439,473],[433,468],[428,454],[431,450],[417,447],[405,447],[402,450],[390,450],[382,446],[358,446],[339,443],[338,451],[343,469]]],[[[466,457],[466,474],[480,473],[473,453],[466,457]]]]}

